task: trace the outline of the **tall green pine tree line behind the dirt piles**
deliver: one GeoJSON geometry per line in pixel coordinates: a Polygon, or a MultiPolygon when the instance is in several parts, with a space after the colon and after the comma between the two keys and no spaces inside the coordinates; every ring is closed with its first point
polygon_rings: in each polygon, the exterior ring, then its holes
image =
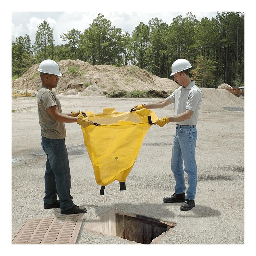
{"type": "Polygon", "coordinates": [[[18,78],[34,63],[45,59],[83,60],[91,65],[137,65],[159,77],[170,78],[173,61],[189,60],[193,80],[200,87],[222,83],[244,85],[244,13],[217,12],[201,21],[188,12],[168,25],[154,18],[140,22],[132,33],[112,26],[101,13],[89,28],[60,36],[63,44],[54,45],[53,29],[43,21],[35,43],[28,35],[12,40],[12,76],[18,78]]]}

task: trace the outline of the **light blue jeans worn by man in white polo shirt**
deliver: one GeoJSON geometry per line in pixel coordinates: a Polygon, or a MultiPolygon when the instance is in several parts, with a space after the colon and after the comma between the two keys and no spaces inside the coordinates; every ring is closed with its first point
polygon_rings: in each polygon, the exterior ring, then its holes
{"type": "Polygon", "coordinates": [[[196,167],[196,125],[176,125],[173,138],[171,168],[174,174],[175,193],[185,192],[185,179],[183,171],[188,173],[188,190],[186,198],[194,200],[196,196],[197,167],[196,167]]]}

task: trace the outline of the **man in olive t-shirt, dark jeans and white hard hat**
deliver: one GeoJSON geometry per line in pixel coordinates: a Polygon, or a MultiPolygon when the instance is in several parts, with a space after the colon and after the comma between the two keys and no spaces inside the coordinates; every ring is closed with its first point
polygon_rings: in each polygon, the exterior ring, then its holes
{"type": "Polygon", "coordinates": [[[71,177],[64,122],[77,123],[83,127],[92,125],[92,122],[86,117],[77,118],[79,112],[62,113],[60,101],[52,92],[52,88],[57,87],[59,76],[62,76],[55,61],[42,61],[38,71],[42,80],[42,86],[37,93],[38,118],[42,148],[47,157],[44,174],[44,209],[60,207],[61,214],[85,213],[86,209],[75,205],[70,195],[71,177]],[[57,200],[57,194],[60,201],[57,200]]]}

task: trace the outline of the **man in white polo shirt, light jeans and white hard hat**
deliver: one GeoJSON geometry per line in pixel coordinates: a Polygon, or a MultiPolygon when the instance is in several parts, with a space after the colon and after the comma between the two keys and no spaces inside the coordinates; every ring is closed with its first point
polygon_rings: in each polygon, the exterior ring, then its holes
{"type": "Polygon", "coordinates": [[[136,105],[133,110],[141,108],[164,108],[171,103],[175,104],[175,115],[164,116],[155,122],[155,125],[163,127],[169,122],[175,122],[176,132],[172,145],[171,169],[176,181],[175,193],[172,196],[165,196],[165,203],[183,203],[181,211],[188,211],[195,206],[197,167],[196,167],[196,123],[198,112],[202,101],[202,92],[190,80],[189,68],[192,68],[188,60],[178,59],[172,64],[172,74],[174,81],[181,86],[172,95],[164,100],[158,100],[149,104],[136,105]],[[183,171],[188,173],[188,189],[185,196],[185,179],[183,171]]]}

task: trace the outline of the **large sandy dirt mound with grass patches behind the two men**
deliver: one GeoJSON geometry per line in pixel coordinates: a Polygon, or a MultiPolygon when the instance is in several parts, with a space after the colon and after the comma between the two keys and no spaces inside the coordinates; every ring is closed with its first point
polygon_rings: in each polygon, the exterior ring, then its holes
{"type": "MultiPolygon", "coordinates": [[[[56,88],[58,92],[65,92],[69,89],[83,92],[89,85],[98,86],[103,92],[111,92],[115,89],[174,91],[179,87],[173,80],[150,75],[146,70],[137,66],[121,68],[110,65],[92,66],[82,60],[61,60],[58,64],[63,74],[56,88]]],[[[38,66],[39,64],[34,64],[24,75],[13,80],[12,89],[22,89],[25,81],[28,80],[28,89],[38,91],[41,86],[38,66]]]]}

